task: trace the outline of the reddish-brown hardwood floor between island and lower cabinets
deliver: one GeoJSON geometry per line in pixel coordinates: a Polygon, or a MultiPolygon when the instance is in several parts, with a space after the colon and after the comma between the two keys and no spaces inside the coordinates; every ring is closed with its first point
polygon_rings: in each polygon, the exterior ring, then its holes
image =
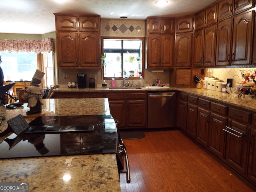
{"type": "Polygon", "coordinates": [[[253,192],[241,180],[180,130],[144,132],[124,140],[131,182],[120,175],[122,192],[253,192]]]}

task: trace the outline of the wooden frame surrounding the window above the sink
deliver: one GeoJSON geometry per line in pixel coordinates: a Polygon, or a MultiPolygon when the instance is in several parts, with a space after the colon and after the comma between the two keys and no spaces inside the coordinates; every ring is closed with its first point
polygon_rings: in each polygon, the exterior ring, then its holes
{"type": "MultiPolygon", "coordinates": [[[[113,39],[113,40],[142,40],[142,59],[141,59],[141,76],[144,76],[144,67],[145,67],[145,38],[144,37],[101,37],[101,55],[104,55],[104,39],[113,39]]],[[[102,69],[102,65],[100,65],[102,69]]],[[[104,75],[104,72],[103,72],[104,75]]],[[[106,80],[111,80],[115,78],[116,80],[122,80],[123,77],[104,77],[106,80]]],[[[130,77],[129,79],[140,79],[140,77],[130,77]]]]}

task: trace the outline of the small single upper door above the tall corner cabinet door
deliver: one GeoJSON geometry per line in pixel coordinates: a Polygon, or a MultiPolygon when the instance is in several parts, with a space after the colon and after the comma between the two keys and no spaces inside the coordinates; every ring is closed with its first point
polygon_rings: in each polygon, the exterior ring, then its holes
{"type": "Polygon", "coordinates": [[[192,32],[193,17],[185,17],[176,19],[176,33],[192,32]]]}

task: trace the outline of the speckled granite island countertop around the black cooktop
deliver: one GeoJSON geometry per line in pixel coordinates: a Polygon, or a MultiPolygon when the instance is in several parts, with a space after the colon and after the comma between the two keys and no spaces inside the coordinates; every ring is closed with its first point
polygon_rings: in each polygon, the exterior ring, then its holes
{"type": "MultiPolygon", "coordinates": [[[[44,99],[46,116],[110,115],[107,98],[44,99]]],[[[25,114],[27,104],[16,109],[0,108],[6,120],[25,114]]],[[[29,123],[34,118],[25,118],[29,123]]],[[[2,121],[0,132],[7,128],[2,121]]],[[[0,142],[6,138],[2,136],[0,142]]],[[[120,191],[115,154],[71,155],[1,159],[1,182],[29,182],[30,191],[120,191]],[[70,180],[66,181],[66,176],[70,180]]]]}

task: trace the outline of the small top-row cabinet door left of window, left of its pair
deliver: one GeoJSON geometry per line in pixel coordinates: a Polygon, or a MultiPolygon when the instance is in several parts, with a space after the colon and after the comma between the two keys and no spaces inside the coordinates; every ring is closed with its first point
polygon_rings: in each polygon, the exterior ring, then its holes
{"type": "Polygon", "coordinates": [[[55,19],[57,31],[77,31],[77,16],[58,16],[55,19]]]}

